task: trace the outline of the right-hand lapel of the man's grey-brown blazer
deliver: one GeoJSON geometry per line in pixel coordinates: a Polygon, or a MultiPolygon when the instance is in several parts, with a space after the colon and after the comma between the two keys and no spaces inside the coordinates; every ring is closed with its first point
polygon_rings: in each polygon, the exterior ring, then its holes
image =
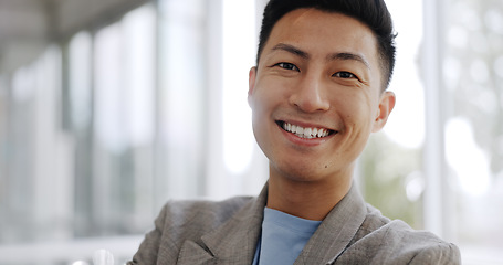
{"type": "Polygon", "coordinates": [[[334,263],[350,243],[366,215],[365,201],[353,184],[307,242],[294,265],[334,263]]]}

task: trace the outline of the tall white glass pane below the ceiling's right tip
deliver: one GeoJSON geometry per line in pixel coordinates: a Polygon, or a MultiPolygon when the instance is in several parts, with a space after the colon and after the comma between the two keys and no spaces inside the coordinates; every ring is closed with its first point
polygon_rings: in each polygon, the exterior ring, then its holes
{"type": "Polygon", "coordinates": [[[156,10],[147,4],[127,13],[124,31],[123,113],[127,117],[130,148],[132,184],[122,193],[122,223],[128,232],[142,232],[151,225],[154,210],[154,145],[156,129],[156,10]],[[128,221],[125,221],[129,219],[128,221]]]}

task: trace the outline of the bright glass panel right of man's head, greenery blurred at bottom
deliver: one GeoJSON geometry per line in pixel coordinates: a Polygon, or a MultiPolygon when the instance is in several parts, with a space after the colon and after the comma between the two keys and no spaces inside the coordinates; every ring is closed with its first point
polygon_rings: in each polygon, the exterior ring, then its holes
{"type": "Polygon", "coordinates": [[[422,1],[386,1],[398,36],[397,62],[389,89],[397,104],[384,131],[370,137],[359,161],[366,200],[390,219],[423,229],[425,99],[417,57],[422,39],[422,1]]]}

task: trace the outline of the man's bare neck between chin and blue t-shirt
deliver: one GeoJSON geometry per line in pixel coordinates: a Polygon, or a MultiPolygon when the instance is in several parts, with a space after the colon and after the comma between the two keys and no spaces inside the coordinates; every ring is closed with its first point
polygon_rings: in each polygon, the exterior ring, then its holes
{"type": "Polygon", "coordinates": [[[298,218],[322,221],[347,194],[352,178],[295,181],[270,176],[268,206],[298,218]]]}

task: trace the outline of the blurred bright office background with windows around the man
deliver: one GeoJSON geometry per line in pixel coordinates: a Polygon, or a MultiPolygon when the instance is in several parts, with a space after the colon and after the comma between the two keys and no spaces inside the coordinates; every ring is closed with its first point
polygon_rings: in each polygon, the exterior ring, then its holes
{"type": "MultiPolygon", "coordinates": [[[[0,264],[123,264],[166,201],[260,192],[265,2],[0,0],[0,264]]],[[[386,2],[398,103],[360,190],[464,264],[503,264],[503,2],[386,2]]]]}

